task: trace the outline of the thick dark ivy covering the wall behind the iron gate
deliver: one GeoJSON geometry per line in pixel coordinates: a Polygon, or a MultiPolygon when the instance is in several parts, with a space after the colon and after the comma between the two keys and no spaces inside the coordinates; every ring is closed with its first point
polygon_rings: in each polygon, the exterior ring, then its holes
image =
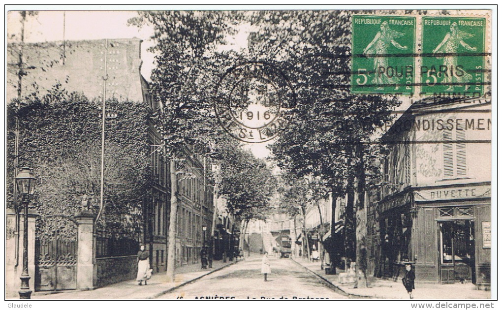
{"type": "MultiPolygon", "coordinates": [[[[81,93],[56,85],[44,95],[32,95],[17,109],[8,105],[7,207],[13,207],[14,128],[19,117],[19,167],[37,178],[31,206],[40,215],[37,237],[57,225],[44,216],[98,213],[101,166],[101,105],[81,93]]],[[[106,102],[116,117],[105,122],[104,210],[98,228],[137,236],[142,227],[141,202],[151,188],[148,104],[106,102]]]]}

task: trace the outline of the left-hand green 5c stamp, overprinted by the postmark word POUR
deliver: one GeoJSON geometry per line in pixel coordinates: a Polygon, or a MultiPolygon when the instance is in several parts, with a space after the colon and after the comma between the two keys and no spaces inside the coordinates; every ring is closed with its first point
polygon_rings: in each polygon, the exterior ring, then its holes
{"type": "Polygon", "coordinates": [[[352,93],[413,94],[414,17],[352,17],[352,93]]]}

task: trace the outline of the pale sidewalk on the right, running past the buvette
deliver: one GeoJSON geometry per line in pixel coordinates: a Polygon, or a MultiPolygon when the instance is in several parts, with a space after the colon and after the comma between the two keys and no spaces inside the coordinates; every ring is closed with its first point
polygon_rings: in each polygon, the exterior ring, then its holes
{"type": "MultiPolygon", "coordinates": [[[[379,299],[409,299],[410,296],[403,287],[401,281],[389,279],[368,278],[367,288],[354,288],[353,284],[339,284],[337,274],[326,274],[321,270],[320,262],[310,262],[304,258],[293,259],[297,264],[315,273],[329,282],[342,293],[354,298],[379,298],[379,299]]],[[[338,272],[338,270],[337,270],[338,272]]],[[[489,299],[491,293],[484,290],[476,290],[472,283],[437,284],[415,282],[413,290],[415,299],[489,299]]]]}

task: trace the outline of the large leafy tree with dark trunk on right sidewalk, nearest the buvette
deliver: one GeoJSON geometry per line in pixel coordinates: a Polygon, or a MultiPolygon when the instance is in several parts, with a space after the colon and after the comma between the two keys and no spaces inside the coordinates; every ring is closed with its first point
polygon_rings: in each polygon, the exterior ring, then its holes
{"type": "Polygon", "coordinates": [[[374,126],[389,120],[389,112],[399,102],[395,97],[350,93],[351,14],[258,12],[251,18],[259,30],[250,44],[250,55],[256,60],[272,58],[295,82],[296,115],[271,146],[274,159],[281,169],[298,178],[323,180],[333,195],[333,211],[336,197],[349,196],[346,225],[350,239],[357,240],[357,249],[349,242],[347,254],[357,258],[363,275],[359,285],[365,286],[366,258],[361,252],[365,236],[361,229],[355,236],[350,214],[355,204],[358,227],[365,225],[365,169],[378,156],[366,142],[374,126]]]}

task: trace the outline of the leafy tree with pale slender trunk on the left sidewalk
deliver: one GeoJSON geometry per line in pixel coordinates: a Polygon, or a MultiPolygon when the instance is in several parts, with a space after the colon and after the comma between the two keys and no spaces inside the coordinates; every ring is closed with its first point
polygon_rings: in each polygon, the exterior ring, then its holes
{"type": "MultiPolygon", "coordinates": [[[[240,14],[223,11],[141,11],[130,25],[154,27],[156,67],[151,76],[151,94],[160,103],[155,119],[164,136],[159,148],[170,161],[171,212],[167,276],[174,281],[177,181],[176,161],[188,144],[204,156],[214,156],[216,139],[222,133],[213,112],[214,87],[226,68],[239,56],[218,51],[225,37],[235,32],[240,14]],[[234,19],[230,19],[232,16],[234,19]]],[[[186,172],[185,172],[186,173],[186,172]]]]}

